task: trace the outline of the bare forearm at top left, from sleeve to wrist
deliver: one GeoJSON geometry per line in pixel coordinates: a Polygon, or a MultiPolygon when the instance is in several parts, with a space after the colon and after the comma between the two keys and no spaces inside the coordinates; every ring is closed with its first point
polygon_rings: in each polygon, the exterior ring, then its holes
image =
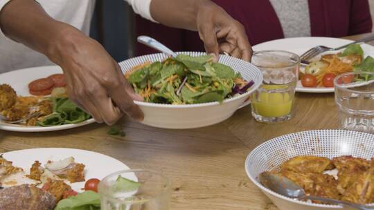
{"type": "Polygon", "coordinates": [[[4,34],[56,62],[57,48],[69,35],[80,31],[66,23],[55,21],[36,1],[12,0],[0,13],[4,34]]]}

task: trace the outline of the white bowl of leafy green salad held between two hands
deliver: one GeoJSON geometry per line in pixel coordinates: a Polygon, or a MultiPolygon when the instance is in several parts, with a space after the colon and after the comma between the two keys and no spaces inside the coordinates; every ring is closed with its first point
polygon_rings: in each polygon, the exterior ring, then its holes
{"type": "Polygon", "coordinates": [[[122,61],[123,73],[144,101],[143,124],[198,128],[217,124],[249,104],[262,73],[247,61],[221,55],[217,63],[202,52],[163,53],[122,61]]]}

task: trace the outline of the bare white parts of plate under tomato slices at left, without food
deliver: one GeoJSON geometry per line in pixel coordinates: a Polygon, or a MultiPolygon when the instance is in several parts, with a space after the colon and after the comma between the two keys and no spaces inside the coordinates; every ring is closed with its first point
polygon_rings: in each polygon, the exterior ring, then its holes
{"type": "MultiPolygon", "coordinates": [[[[0,84],[9,84],[15,89],[17,95],[27,96],[28,84],[35,79],[48,77],[49,75],[62,73],[60,66],[42,66],[34,68],[24,68],[20,70],[13,70],[8,73],[0,74],[0,84]]],[[[61,126],[23,126],[19,124],[8,124],[0,122],[0,130],[19,131],[19,132],[41,132],[41,131],[59,131],[69,128],[76,128],[95,122],[94,119],[89,119],[77,124],[66,124],[61,126]]]]}

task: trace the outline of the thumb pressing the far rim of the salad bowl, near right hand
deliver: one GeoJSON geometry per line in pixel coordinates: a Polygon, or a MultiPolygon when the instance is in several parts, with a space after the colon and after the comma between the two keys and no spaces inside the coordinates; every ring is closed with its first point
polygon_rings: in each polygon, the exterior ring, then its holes
{"type": "Polygon", "coordinates": [[[218,53],[220,53],[220,48],[217,42],[217,35],[215,34],[215,29],[212,26],[203,26],[199,30],[199,37],[204,41],[204,48],[206,54],[213,55],[214,61],[218,61],[218,53]]]}

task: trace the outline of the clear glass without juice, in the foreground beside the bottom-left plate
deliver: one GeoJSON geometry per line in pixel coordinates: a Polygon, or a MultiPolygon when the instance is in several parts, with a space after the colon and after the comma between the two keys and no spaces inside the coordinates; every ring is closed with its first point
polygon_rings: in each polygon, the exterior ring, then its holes
{"type": "Polygon", "coordinates": [[[99,183],[98,193],[101,210],[168,210],[170,181],[160,173],[142,169],[118,171],[99,183]],[[119,176],[134,182],[119,188],[119,176]]]}

